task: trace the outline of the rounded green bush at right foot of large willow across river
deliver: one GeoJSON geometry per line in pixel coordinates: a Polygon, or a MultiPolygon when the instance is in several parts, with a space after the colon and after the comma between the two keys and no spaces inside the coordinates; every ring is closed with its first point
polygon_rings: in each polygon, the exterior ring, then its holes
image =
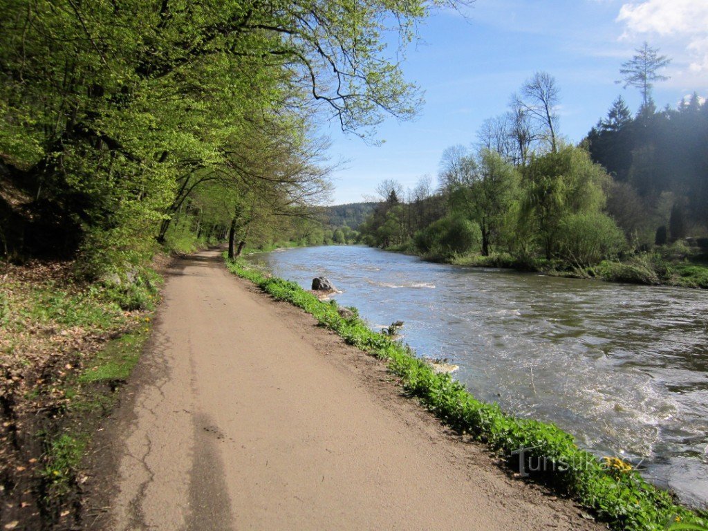
{"type": "Polygon", "coordinates": [[[612,218],[599,212],[566,216],[560,229],[560,256],[578,267],[616,258],[627,246],[622,230],[612,218]]]}

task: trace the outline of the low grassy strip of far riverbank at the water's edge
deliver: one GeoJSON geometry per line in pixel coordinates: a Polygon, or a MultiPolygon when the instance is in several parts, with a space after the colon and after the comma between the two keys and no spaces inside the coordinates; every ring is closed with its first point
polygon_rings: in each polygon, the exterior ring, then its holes
{"type": "Polygon", "coordinates": [[[499,268],[532,271],[566,278],[595,278],[605,282],[639,285],[667,285],[708,289],[708,260],[700,253],[671,247],[654,252],[636,253],[623,260],[605,260],[597,265],[569,265],[559,261],[533,259],[520,261],[508,253],[479,253],[447,256],[419,253],[410,245],[392,246],[385,251],[418,256],[433,263],[449,263],[476,268],[499,268]]]}

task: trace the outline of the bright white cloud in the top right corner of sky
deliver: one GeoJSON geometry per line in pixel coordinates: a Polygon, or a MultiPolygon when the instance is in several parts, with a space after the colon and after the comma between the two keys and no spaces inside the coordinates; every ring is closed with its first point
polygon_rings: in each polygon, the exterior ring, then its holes
{"type": "Polygon", "coordinates": [[[646,0],[623,4],[617,21],[627,30],[623,37],[654,33],[685,40],[690,70],[708,72],[708,1],[646,0]]]}

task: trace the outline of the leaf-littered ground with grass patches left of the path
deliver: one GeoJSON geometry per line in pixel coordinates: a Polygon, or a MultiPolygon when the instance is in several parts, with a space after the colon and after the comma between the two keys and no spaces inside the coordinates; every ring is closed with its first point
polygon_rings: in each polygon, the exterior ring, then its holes
{"type": "Polygon", "coordinates": [[[149,336],[156,273],[79,282],[74,264],[0,263],[0,524],[81,525],[82,459],[149,336]]]}

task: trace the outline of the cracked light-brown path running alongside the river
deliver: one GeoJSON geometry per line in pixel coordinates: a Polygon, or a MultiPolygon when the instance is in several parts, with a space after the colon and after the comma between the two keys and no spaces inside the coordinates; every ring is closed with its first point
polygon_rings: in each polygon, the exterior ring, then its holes
{"type": "Polygon", "coordinates": [[[118,478],[103,480],[110,510],[94,527],[600,529],[510,479],[380,362],[229,275],[215,251],[170,271],[127,393],[98,454],[112,452],[118,478]]]}

